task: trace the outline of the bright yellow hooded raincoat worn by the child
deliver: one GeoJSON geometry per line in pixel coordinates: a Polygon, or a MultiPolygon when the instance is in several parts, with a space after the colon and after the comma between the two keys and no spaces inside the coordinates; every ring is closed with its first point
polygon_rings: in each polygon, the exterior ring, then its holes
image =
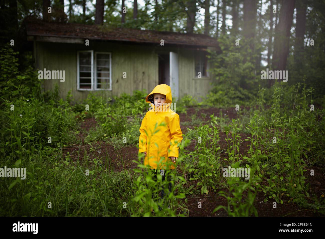
{"type": "Polygon", "coordinates": [[[151,103],[152,109],[150,108],[144,116],[139,129],[139,153],[147,152],[144,165],[154,169],[175,169],[175,163],[168,157],[178,157],[177,144],[182,141],[183,136],[179,115],[171,110],[170,86],[166,84],[156,86],[146,97],[146,102],[151,103]],[[164,105],[155,108],[152,95],[154,93],[166,95],[164,105]],[[160,124],[165,126],[159,126],[160,124]],[[170,162],[169,166],[165,164],[167,161],[170,162]]]}

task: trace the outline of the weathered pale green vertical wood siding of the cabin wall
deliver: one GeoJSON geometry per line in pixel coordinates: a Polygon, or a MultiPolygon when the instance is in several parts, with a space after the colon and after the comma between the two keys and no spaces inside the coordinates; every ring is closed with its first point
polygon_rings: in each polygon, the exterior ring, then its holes
{"type": "Polygon", "coordinates": [[[90,46],[81,44],[36,42],[36,69],[65,70],[65,82],[44,80],[44,89],[53,90],[59,85],[60,97],[65,98],[71,90],[76,102],[87,98],[87,90],[77,90],[77,51],[94,50],[111,53],[112,90],[96,91],[105,97],[132,94],[134,90],[147,89],[149,93],[158,85],[158,54],[169,51],[179,55],[179,96],[185,94],[205,96],[210,89],[211,78],[195,79],[193,50],[163,46],[128,45],[110,42],[91,42],[90,46]],[[163,49],[163,50],[162,50],[163,49]],[[123,78],[126,72],[127,78],[123,78]]]}

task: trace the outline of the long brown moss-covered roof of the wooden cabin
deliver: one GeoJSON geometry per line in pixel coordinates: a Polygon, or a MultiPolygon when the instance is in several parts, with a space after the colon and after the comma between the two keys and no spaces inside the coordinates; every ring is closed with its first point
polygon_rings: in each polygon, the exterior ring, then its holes
{"type": "Polygon", "coordinates": [[[44,22],[42,20],[30,20],[26,22],[26,32],[28,40],[38,37],[38,39],[43,38],[43,41],[60,42],[53,39],[65,38],[72,40],[71,43],[84,43],[85,39],[89,39],[160,45],[160,41],[163,39],[164,46],[213,47],[216,50],[220,50],[215,38],[194,33],[108,28],[99,25],[44,22]],[[47,40],[44,40],[45,38],[47,40]],[[78,42],[78,40],[80,41],[78,42]]]}

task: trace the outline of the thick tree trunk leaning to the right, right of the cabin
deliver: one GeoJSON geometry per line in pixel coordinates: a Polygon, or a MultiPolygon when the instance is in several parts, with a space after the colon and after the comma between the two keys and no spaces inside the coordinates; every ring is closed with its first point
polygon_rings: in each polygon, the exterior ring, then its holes
{"type": "Polygon", "coordinates": [[[272,68],[274,70],[285,70],[289,53],[289,38],[292,25],[295,0],[282,2],[279,24],[274,38],[274,52],[272,68]]]}

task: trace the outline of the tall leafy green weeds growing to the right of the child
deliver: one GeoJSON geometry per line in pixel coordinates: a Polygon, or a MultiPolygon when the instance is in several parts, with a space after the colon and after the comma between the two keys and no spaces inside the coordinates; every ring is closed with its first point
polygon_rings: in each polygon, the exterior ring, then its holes
{"type": "Polygon", "coordinates": [[[187,155],[193,159],[190,172],[194,175],[191,180],[197,181],[201,193],[207,193],[209,188],[215,189],[216,185],[225,185],[228,193],[219,193],[227,198],[228,207],[219,206],[216,210],[223,208],[229,216],[256,216],[252,201],[257,192],[265,194],[265,202],[275,200],[281,204],[292,200],[299,202],[304,196],[309,197],[310,186],[306,182],[310,173],[308,168],[315,164],[323,165],[319,157],[325,156],[325,110],[319,107],[324,105],[323,100],[318,101],[312,111],[313,89],[306,89],[304,84],[283,87],[276,83],[271,90],[271,97],[266,99],[266,89],[260,89],[257,103],[252,102],[254,107],[248,111],[250,117],[247,118],[245,112],[228,125],[225,125],[224,118],[216,120],[223,124],[221,130],[226,134],[227,158],[220,160],[212,153],[220,150],[220,147],[210,143],[215,135],[210,136],[212,128],[208,125],[195,127],[189,132],[196,132],[197,137],[204,135],[202,143],[187,155]],[[238,122],[244,129],[238,127],[238,122]],[[247,139],[244,139],[250,142],[246,155],[240,154],[240,132],[248,133],[247,139]],[[220,175],[220,171],[209,174],[206,165],[223,165],[224,161],[231,167],[249,167],[250,181],[244,182],[239,178],[225,181],[219,178],[212,183],[211,176],[220,175]],[[266,183],[261,183],[262,180],[266,183]],[[248,193],[244,198],[239,196],[243,192],[248,193]],[[240,200],[242,203],[236,206],[240,200]]]}

